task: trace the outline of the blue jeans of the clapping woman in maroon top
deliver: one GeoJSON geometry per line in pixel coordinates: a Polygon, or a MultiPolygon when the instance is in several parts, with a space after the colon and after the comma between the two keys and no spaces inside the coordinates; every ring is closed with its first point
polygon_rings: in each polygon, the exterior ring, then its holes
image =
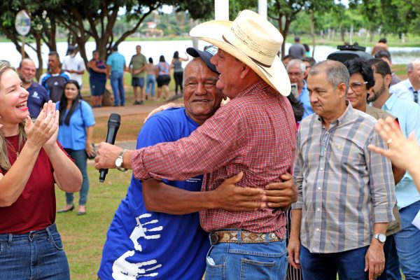
{"type": "Polygon", "coordinates": [[[23,235],[0,234],[0,280],[10,279],[70,279],[55,224],[23,235]]]}

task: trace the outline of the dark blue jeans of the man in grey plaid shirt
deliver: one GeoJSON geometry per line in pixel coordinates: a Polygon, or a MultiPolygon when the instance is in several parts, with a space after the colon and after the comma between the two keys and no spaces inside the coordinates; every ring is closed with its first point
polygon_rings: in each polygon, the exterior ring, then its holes
{"type": "Polygon", "coordinates": [[[303,279],[339,280],[369,279],[365,272],[365,255],[369,246],[339,253],[311,253],[300,246],[303,279]]]}

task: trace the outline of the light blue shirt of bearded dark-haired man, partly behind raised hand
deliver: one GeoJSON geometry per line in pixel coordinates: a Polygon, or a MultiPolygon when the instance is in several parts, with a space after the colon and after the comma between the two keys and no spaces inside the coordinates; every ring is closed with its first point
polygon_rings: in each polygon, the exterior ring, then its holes
{"type": "MultiPolygon", "coordinates": [[[[401,83],[404,83],[402,81],[401,83]]],[[[398,123],[405,137],[415,130],[416,139],[420,141],[420,106],[414,102],[400,99],[396,94],[391,97],[382,106],[382,110],[391,113],[398,118],[398,123]]],[[[395,186],[397,195],[397,206],[399,209],[407,207],[420,200],[420,193],[414,185],[412,176],[405,173],[400,183],[395,186]]]]}

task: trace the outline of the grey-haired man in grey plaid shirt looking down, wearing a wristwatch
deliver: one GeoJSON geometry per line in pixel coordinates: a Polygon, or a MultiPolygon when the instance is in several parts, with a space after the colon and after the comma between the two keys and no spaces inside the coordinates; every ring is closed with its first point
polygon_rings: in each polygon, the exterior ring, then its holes
{"type": "Polygon", "coordinates": [[[309,71],[314,114],[297,132],[289,262],[303,279],[374,279],[384,269],[386,226],[395,205],[391,162],[376,120],[346,101],[349,71],[327,60],[309,71]],[[320,143],[321,142],[321,143],[320,143]],[[370,223],[373,217],[374,223],[370,223]],[[302,225],[302,226],[301,226],[302,225]]]}

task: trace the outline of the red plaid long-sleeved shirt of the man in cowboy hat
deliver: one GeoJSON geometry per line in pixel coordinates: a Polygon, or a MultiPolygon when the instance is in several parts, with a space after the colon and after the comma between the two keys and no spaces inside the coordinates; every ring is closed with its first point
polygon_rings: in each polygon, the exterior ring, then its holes
{"type": "MultiPolygon", "coordinates": [[[[264,188],[291,173],[295,156],[296,124],[293,110],[264,81],[255,83],[222,106],[189,137],[142,148],[132,155],[137,179],[186,180],[204,175],[202,190],[214,190],[225,179],[244,172],[239,187],[264,188]]],[[[286,218],[279,209],[200,212],[208,232],[241,228],[276,232],[285,237],[286,218]]]]}

